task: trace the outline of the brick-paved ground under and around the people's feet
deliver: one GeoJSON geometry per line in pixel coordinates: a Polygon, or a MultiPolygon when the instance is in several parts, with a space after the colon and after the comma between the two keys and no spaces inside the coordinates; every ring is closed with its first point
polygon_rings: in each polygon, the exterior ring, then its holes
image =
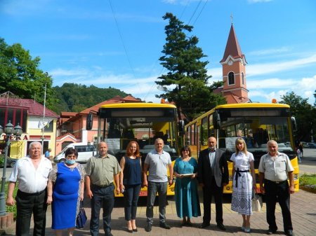
{"type": "MultiPolygon", "coordinates": [[[[171,230],[164,230],[159,228],[159,213],[158,207],[154,207],[154,224],[152,227],[152,232],[145,232],[145,198],[143,197],[138,202],[138,216],[137,225],[138,232],[133,232],[133,235],[148,235],[148,236],[162,236],[162,235],[173,235],[173,236],[211,236],[211,235],[265,235],[268,229],[268,224],[265,221],[265,204],[263,204],[263,209],[261,212],[254,212],[251,216],[251,233],[247,234],[242,232],[240,226],[242,225],[242,216],[238,215],[234,211],[230,210],[230,195],[226,195],[223,204],[223,218],[224,224],[226,225],[227,231],[218,231],[214,221],[215,207],[212,204],[212,220],[211,226],[205,229],[199,229],[197,226],[202,222],[202,217],[193,218],[192,223],[194,227],[183,227],[180,228],[180,218],[176,215],[176,205],[171,197],[168,200],[169,204],[166,207],[166,218],[167,223],[171,225],[171,230]]],[[[91,215],[91,209],[89,200],[85,200],[85,209],[88,218],[91,215]]],[[[203,211],[203,205],[201,204],[201,209],[203,211]]],[[[315,236],[316,235],[316,194],[308,193],[304,190],[300,190],[298,193],[291,195],[291,212],[292,221],[294,226],[294,232],[297,236],[315,236]]],[[[47,227],[46,235],[55,235],[53,230],[51,230],[51,207],[48,207],[47,212],[47,227]]],[[[276,218],[279,231],[277,235],[283,235],[282,227],[282,213],[279,206],[276,209],[276,218]]],[[[76,230],[74,235],[90,235],[88,229],[89,220],[86,227],[83,230],[76,230]]],[[[100,221],[100,225],[103,223],[100,221]]],[[[11,229],[7,230],[6,235],[15,235],[14,230],[15,225],[11,229]]],[[[115,207],[112,212],[112,234],[114,236],[131,235],[131,233],[126,232],[126,223],[124,221],[124,207],[122,199],[118,199],[115,202],[115,207]]],[[[100,235],[104,235],[103,230],[100,230],[100,235]]]]}

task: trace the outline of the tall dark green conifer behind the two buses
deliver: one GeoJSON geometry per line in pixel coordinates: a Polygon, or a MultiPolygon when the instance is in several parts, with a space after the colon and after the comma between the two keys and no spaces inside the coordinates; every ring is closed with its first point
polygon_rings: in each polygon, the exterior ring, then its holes
{"type": "Polygon", "coordinates": [[[200,113],[212,109],[217,104],[224,104],[225,98],[213,93],[220,83],[208,85],[209,78],[205,69],[208,61],[202,61],[202,48],[197,46],[197,36],[187,36],[193,27],[184,25],[172,13],[166,13],[164,20],[169,20],[165,27],[166,44],[159,58],[160,64],[168,70],[155,81],[164,92],[156,97],[168,99],[178,107],[178,116],[183,113],[192,120],[200,113]]]}

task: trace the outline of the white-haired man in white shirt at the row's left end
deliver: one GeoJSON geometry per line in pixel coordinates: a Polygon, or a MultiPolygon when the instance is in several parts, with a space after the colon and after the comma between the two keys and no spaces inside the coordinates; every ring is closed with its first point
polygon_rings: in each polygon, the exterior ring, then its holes
{"type": "Polygon", "coordinates": [[[29,156],[16,162],[9,177],[6,204],[13,206],[13,190],[18,181],[18,193],[15,197],[17,218],[15,235],[29,235],[31,216],[34,216],[33,235],[45,235],[46,198],[48,174],[52,169],[51,161],[41,156],[41,144],[34,141],[29,144],[29,156]]]}

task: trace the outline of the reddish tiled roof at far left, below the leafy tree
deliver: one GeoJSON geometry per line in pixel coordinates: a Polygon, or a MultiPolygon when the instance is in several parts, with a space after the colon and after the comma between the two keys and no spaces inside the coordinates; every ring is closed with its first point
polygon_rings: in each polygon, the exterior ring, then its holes
{"type": "MultiPolygon", "coordinates": [[[[6,103],[7,99],[4,97],[0,98],[0,106],[13,106],[13,107],[20,107],[28,110],[29,116],[43,116],[44,113],[44,106],[42,104],[39,104],[33,99],[23,99],[23,98],[9,98],[8,104],[6,103]]],[[[58,115],[48,109],[45,108],[45,116],[46,117],[54,117],[58,118],[58,115]]]]}

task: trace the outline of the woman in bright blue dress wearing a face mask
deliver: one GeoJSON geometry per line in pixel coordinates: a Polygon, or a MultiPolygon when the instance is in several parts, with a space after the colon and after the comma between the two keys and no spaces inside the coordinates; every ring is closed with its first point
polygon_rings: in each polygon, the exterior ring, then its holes
{"type": "Polygon", "coordinates": [[[84,166],[76,162],[78,152],[69,148],[65,162],[60,162],[48,176],[47,203],[52,204],[52,226],[57,236],[67,229],[72,236],[76,226],[79,203],[84,200],[84,166]]]}

